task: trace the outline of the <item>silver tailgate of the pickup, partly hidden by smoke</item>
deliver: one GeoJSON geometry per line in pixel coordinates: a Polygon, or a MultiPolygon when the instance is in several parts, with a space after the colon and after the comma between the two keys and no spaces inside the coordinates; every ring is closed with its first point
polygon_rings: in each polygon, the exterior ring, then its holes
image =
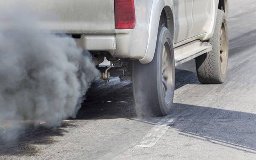
{"type": "Polygon", "coordinates": [[[0,6],[10,8],[21,2],[44,15],[42,29],[56,33],[115,32],[114,0],[0,0],[0,6]]]}

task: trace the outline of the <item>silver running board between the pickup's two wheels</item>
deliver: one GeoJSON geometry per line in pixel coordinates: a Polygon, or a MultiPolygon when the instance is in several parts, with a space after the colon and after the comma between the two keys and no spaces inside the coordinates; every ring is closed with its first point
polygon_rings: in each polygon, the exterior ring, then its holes
{"type": "Polygon", "coordinates": [[[175,66],[192,60],[193,58],[196,58],[211,50],[211,44],[208,42],[202,42],[200,40],[195,40],[193,42],[174,48],[175,66]]]}

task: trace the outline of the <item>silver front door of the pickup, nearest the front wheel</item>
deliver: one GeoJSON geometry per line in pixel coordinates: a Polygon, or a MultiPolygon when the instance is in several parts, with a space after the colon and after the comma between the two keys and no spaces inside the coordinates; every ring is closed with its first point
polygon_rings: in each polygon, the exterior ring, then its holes
{"type": "Polygon", "coordinates": [[[213,0],[193,0],[193,26],[190,37],[208,32],[212,20],[213,0]]]}

